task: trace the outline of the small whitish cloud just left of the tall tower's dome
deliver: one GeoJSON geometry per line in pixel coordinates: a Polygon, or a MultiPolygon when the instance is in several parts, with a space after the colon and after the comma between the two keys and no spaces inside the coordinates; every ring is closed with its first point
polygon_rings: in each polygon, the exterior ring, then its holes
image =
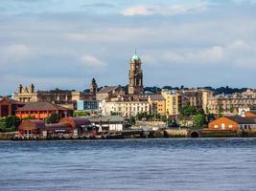
{"type": "Polygon", "coordinates": [[[98,59],[97,57],[89,54],[83,54],[80,57],[80,62],[82,66],[91,68],[91,69],[103,69],[107,66],[107,64],[98,59]]]}

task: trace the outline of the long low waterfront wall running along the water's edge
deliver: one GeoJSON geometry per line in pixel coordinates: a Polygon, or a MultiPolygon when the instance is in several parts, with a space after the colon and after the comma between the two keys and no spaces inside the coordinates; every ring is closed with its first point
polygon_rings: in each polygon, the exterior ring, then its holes
{"type": "Polygon", "coordinates": [[[85,140],[85,139],[132,139],[132,138],[256,138],[255,131],[209,131],[203,130],[177,130],[167,129],[161,131],[124,131],[114,132],[108,135],[81,135],[81,136],[61,136],[61,137],[40,137],[34,136],[16,136],[15,132],[0,133],[0,140],[85,140]]]}

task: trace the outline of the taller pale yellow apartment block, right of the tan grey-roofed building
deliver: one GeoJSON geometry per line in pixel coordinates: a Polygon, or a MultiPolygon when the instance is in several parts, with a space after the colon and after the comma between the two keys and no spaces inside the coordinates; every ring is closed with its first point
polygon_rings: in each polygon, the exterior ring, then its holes
{"type": "Polygon", "coordinates": [[[182,108],[183,94],[177,91],[163,90],[162,96],[165,99],[165,113],[166,115],[179,115],[182,108]]]}

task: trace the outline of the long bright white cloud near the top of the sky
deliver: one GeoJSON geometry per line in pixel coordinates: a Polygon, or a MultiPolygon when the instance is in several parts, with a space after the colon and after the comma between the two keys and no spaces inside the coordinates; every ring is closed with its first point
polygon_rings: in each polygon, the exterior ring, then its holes
{"type": "Polygon", "coordinates": [[[138,5],[134,7],[129,7],[122,11],[126,16],[132,15],[174,15],[188,12],[198,12],[204,11],[206,9],[206,4],[203,2],[198,3],[194,6],[188,6],[185,4],[172,4],[172,5],[138,5]]]}

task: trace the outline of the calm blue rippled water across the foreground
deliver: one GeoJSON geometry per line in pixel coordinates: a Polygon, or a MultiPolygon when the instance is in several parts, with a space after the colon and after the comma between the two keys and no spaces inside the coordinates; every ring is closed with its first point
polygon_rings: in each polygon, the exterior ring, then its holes
{"type": "Polygon", "coordinates": [[[256,190],[256,138],[0,141],[0,190],[256,190]]]}

